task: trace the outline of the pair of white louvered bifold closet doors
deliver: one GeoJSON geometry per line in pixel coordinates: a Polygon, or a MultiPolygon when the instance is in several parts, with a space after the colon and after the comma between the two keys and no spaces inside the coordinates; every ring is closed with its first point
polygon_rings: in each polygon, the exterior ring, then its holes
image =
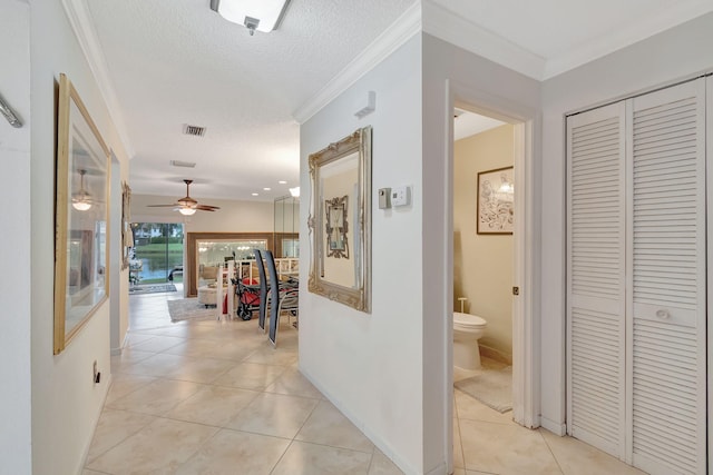
{"type": "Polygon", "coordinates": [[[705,82],[572,116],[568,433],[706,469],[705,82]]]}

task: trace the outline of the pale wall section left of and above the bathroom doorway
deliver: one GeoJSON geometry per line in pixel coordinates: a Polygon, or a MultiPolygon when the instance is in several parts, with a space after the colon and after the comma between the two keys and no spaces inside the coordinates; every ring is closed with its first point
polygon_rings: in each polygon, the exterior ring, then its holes
{"type": "MultiPolygon", "coordinates": [[[[424,29],[427,29],[424,19],[424,29]]],[[[428,30],[428,29],[427,29],[428,30]]],[[[451,101],[521,121],[537,119],[540,85],[530,78],[423,34],[423,424],[427,459],[450,452],[452,387],[451,101]],[[438,408],[443,408],[439,412],[438,408]],[[438,432],[443,427],[442,432],[438,432]]],[[[502,116],[500,116],[502,117],[502,116]]],[[[535,161],[539,150],[535,150],[535,161]]],[[[526,164],[526,167],[536,166],[526,164]]],[[[536,291],[527,289],[527,291],[536,291]]],[[[533,315],[537,326],[537,315],[533,315]]]]}

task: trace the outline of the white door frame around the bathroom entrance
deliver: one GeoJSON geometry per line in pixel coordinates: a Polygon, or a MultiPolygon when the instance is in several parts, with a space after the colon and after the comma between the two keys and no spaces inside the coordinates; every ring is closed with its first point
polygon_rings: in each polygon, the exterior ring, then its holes
{"type": "MultiPolygon", "coordinates": [[[[535,155],[534,146],[534,128],[535,120],[534,111],[527,108],[517,107],[506,100],[497,100],[492,97],[480,97],[477,91],[472,91],[468,88],[459,87],[458,85],[451,85],[451,92],[453,99],[451,102],[450,126],[453,130],[455,126],[455,110],[461,109],[476,115],[485,116],[491,119],[499,120],[500,122],[509,125],[511,127],[511,140],[512,140],[512,185],[514,185],[514,209],[515,217],[512,221],[512,235],[511,238],[511,280],[507,284],[511,298],[511,384],[512,384],[512,413],[511,419],[521,426],[528,428],[539,427],[539,340],[537,336],[537,323],[534,319],[535,296],[537,295],[537,283],[534,279],[535,273],[535,258],[534,251],[536,235],[534,232],[534,210],[536,209],[536,197],[534,196],[534,174],[533,174],[533,157],[535,155]],[[479,103],[478,106],[475,106],[479,103]]],[[[447,192],[447,200],[449,202],[449,226],[447,232],[449,236],[450,249],[448,250],[448,259],[450,260],[451,274],[448,276],[448,289],[452,299],[452,306],[449,305],[447,311],[459,310],[460,305],[457,300],[456,286],[453,281],[453,170],[455,170],[455,136],[451,132],[449,140],[447,140],[448,149],[448,174],[449,181],[447,192]]],[[[487,170],[484,170],[487,171],[487,170]]],[[[477,176],[471,177],[472,187],[476,187],[477,176]]],[[[471,204],[471,219],[475,220],[475,210],[477,204],[471,204]]],[[[475,225],[473,225],[475,226],[475,225]]],[[[486,317],[487,318],[487,317],[486,317]]],[[[450,397],[453,396],[453,366],[452,366],[452,315],[449,315],[449,342],[450,345],[450,358],[447,360],[446,374],[447,377],[447,392],[450,397]]],[[[455,418],[456,414],[452,413],[451,407],[447,407],[447,415],[450,418],[451,424],[458,423],[455,418]]],[[[449,427],[452,431],[452,426],[449,427]]],[[[458,434],[457,434],[458,436],[458,434]]],[[[452,438],[448,438],[449,445],[447,451],[453,451],[453,457],[458,456],[458,447],[453,447],[452,438]]]]}

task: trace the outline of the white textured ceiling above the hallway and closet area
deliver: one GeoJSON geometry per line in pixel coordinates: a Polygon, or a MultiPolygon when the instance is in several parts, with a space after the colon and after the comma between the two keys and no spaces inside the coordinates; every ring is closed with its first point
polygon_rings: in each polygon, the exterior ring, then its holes
{"type": "MultiPolygon", "coordinates": [[[[209,0],[68,1],[90,14],[135,151],[134,192],[178,198],[192,178],[198,198],[260,200],[297,185],[293,113],[418,2],[292,0],[279,30],[251,37],[209,0]],[[185,123],[205,136],[184,136],[185,123]]],[[[423,1],[540,61],[544,77],[713,10],[712,0],[423,1]]]]}

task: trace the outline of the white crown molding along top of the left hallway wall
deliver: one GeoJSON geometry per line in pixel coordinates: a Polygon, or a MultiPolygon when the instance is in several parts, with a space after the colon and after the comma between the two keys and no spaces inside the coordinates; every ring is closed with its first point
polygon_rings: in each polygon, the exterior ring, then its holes
{"type": "Polygon", "coordinates": [[[114,127],[116,127],[121,145],[124,146],[124,150],[130,160],[134,158],[135,151],[131,147],[129,136],[126,132],[126,122],[124,121],[121,108],[119,107],[119,101],[116,97],[116,92],[114,91],[107,62],[104,57],[104,52],[101,51],[101,47],[99,46],[97,32],[94,28],[94,23],[91,22],[91,17],[87,9],[86,1],[62,0],[62,6],[65,7],[65,11],[69,18],[69,23],[75,31],[77,41],[79,41],[79,47],[84,51],[85,58],[89,63],[89,69],[94,75],[99,92],[101,93],[109,111],[109,116],[114,121],[114,127]]]}

